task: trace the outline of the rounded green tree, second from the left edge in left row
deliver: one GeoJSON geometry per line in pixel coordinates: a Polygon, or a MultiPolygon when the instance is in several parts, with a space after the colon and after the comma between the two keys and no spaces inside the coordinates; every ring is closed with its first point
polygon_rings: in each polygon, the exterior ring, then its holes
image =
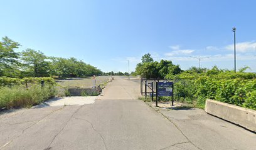
{"type": "Polygon", "coordinates": [[[28,76],[50,76],[49,62],[46,61],[47,57],[41,51],[26,49],[22,52],[21,59],[24,61],[28,76]]]}

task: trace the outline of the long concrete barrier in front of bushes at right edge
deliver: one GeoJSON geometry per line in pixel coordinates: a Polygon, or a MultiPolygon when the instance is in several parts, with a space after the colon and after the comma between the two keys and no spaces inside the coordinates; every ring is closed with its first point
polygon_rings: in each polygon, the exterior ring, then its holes
{"type": "Polygon", "coordinates": [[[205,111],[256,132],[256,111],[252,109],[206,99],[205,111]]]}

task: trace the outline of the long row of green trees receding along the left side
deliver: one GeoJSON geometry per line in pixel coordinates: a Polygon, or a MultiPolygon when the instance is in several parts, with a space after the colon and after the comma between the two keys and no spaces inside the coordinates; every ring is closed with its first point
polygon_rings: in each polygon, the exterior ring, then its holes
{"type": "Polygon", "coordinates": [[[103,74],[100,69],[76,58],[48,57],[34,49],[17,52],[20,46],[21,44],[9,37],[2,38],[0,41],[0,76],[69,78],[103,74]]]}

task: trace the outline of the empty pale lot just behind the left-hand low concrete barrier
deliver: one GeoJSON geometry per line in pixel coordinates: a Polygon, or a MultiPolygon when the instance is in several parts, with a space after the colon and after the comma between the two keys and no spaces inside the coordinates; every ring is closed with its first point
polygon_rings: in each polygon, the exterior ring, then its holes
{"type": "MultiPolygon", "coordinates": [[[[104,84],[109,78],[110,76],[97,76],[96,86],[104,84]]],[[[92,88],[93,86],[92,77],[60,79],[56,80],[56,83],[62,87],[92,88]]]]}

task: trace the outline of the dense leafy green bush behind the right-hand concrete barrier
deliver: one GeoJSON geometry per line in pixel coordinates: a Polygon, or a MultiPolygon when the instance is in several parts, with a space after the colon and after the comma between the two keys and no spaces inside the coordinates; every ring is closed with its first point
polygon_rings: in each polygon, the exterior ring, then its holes
{"type": "Polygon", "coordinates": [[[204,108],[205,99],[209,98],[256,110],[256,79],[247,73],[230,74],[223,78],[205,76],[193,80],[176,80],[174,99],[193,103],[198,108],[204,108]],[[233,76],[240,78],[230,79],[233,76]],[[252,79],[248,79],[248,76],[252,79]]]}

